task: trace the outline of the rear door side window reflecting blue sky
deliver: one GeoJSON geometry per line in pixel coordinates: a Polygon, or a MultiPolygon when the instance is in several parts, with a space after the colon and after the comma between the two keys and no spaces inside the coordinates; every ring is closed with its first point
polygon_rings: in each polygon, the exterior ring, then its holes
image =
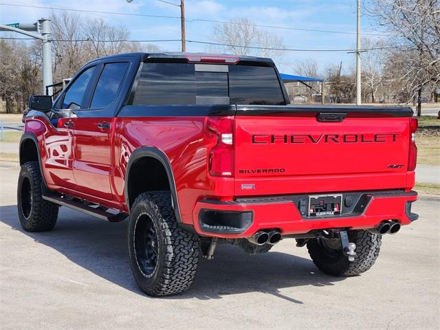
{"type": "Polygon", "coordinates": [[[128,67],[129,63],[127,62],[104,65],[91,100],[91,108],[107,107],[116,99],[128,67]]]}

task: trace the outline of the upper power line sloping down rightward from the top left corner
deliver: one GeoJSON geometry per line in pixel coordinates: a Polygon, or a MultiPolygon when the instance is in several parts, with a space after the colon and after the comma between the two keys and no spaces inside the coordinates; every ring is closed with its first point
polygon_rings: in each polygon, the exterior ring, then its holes
{"type": "MultiPolygon", "coordinates": [[[[157,0],[164,3],[170,3],[164,0],[157,0]]],[[[175,3],[170,3],[176,5],[175,3]]],[[[113,15],[125,15],[125,16],[139,16],[139,17],[155,17],[161,19],[180,19],[180,17],[175,16],[162,16],[162,15],[151,15],[151,14],[133,14],[129,12],[102,12],[98,10],[83,10],[83,9],[73,9],[73,8],[60,8],[60,7],[45,7],[43,5],[20,5],[17,3],[0,3],[0,5],[12,5],[16,7],[27,7],[27,8],[39,8],[39,9],[51,9],[51,10],[66,10],[72,12],[90,12],[93,14],[113,14],[113,15]]],[[[177,5],[179,7],[179,5],[177,5]]],[[[208,22],[208,23],[223,23],[223,24],[231,24],[231,25],[244,25],[244,23],[240,22],[230,22],[230,21],[217,21],[214,19],[185,19],[186,22],[192,23],[195,21],[198,22],[208,22]]],[[[285,26],[276,26],[276,25],[261,25],[261,24],[253,24],[258,28],[269,28],[269,29],[278,29],[278,30],[292,30],[292,31],[302,31],[302,32],[320,32],[320,33],[335,33],[335,34],[356,34],[356,32],[348,32],[348,31],[333,31],[333,30],[316,30],[316,29],[305,29],[305,28],[288,28],[285,26]]],[[[366,36],[384,36],[384,34],[369,34],[364,33],[366,36]]]]}

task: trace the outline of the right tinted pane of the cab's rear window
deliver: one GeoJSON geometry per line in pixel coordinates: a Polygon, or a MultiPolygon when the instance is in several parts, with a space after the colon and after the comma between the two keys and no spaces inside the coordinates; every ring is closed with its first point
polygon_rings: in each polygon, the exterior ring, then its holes
{"type": "Polygon", "coordinates": [[[231,104],[285,104],[273,67],[230,65],[231,104]]]}

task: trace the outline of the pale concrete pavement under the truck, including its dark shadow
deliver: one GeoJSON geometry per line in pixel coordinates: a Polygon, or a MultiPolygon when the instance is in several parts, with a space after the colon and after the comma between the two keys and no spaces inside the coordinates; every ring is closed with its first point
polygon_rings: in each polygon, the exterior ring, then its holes
{"type": "Polygon", "coordinates": [[[131,277],[126,222],[61,208],[52,232],[19,225],[17,168],[0,168],[1,329],[439,329],[439,200],[384,236],[361,276],[322,274],[285,239],[249,256],[221,245],[180,296],[150,298],[131,277]]]}

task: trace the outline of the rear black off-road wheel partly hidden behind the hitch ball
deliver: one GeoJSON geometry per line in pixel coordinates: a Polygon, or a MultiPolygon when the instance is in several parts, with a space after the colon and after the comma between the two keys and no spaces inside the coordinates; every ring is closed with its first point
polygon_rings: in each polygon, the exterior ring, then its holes
{"type": "Polygon", "coordinates": [[[352,276],[366,272],[379,256],[382,235],[366,230],[350,230],[349,241],[356,244],[353,262],[342,253],[340,239],[311,239],[307,242],[307,250],[316,267],[325,274],[352,276]]]}

